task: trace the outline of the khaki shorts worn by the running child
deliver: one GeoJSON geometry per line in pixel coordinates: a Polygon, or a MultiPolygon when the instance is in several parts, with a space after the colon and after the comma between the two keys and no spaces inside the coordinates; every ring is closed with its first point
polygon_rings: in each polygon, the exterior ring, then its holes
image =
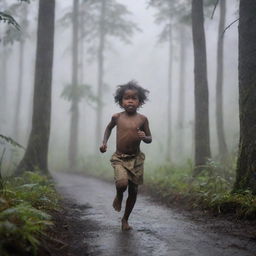
{"type": "Polygon", "coordinates": [[[144,153],[138,155],[126,155],[114,153],[110,159],[114,168],[115,181],[130,180],[134,184],[143,184],[144,153]]]}

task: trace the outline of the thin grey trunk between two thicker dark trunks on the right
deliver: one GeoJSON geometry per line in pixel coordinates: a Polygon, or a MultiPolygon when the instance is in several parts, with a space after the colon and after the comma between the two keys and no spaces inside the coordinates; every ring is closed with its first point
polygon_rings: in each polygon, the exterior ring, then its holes
{"type": "Polygon", "coordinates": [[[220,22],[217,49],[217,79],[216,79],[216,127],[219,154],[222,161],[227,158],[228,149],[223,125],[223,31],[225,29],[226,0],[220,1],[220,22]]]}

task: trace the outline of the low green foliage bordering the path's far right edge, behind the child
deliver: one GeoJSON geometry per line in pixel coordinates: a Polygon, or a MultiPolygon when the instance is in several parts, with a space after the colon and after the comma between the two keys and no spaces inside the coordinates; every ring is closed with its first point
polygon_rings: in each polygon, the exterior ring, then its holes
{"type": "MultiPolygon", "coordinates": [[[[168,205],[185,209],[200,209],[214,215],[229,214],[239,219],[256,219],[256,197],[250,190],[233,192],[235,162],[229,167],[214,160],[196,177],[190,161],[184,166],[170,164],[145,166],[145,189],[168,205]]],[[[86,173],[105,180],[113,180],[111,166],[101,161],[85,163],[86,173]]],[[[84,170],[83,170],[84,171],[84,170]]]]}

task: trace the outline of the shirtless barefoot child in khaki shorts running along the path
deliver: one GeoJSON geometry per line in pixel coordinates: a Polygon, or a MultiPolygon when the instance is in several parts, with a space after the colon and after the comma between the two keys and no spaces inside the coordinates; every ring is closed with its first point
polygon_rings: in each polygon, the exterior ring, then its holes
{"type": "Polygon", "coordinates": [[[140,143],[152,141],[147,117],[137,112],[148,99],[148,93],[148,90],[135,81],[118,86],[114,98],[124,111],[112,116],[100,146],[101,153],[106,152],[107,141],[112,129],[116,126],[116,152],[112,155],[110,162],[114,168],[116,183],[113,207],[118,212],[121,211],[123,193],[128,187],[122,230],[132,229],[128,219],[136,202],[138,185],[143,183],[145,155],[140,151],[140,143]]]}

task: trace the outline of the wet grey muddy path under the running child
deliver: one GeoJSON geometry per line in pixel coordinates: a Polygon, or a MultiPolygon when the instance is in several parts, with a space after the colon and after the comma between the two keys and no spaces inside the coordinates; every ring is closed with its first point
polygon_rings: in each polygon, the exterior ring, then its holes
{"type": "Polygon", "coordinates": [[[133,230],[122,232],[123,210],[117,213],[111,206],[113,184],[71,174],[54,178],[64,207],[55,216],[53,235],[61,242],[49,248],[50,255],[256,255],[254,222],[171,209],[143,193],[130,217],[133,230]]]}

